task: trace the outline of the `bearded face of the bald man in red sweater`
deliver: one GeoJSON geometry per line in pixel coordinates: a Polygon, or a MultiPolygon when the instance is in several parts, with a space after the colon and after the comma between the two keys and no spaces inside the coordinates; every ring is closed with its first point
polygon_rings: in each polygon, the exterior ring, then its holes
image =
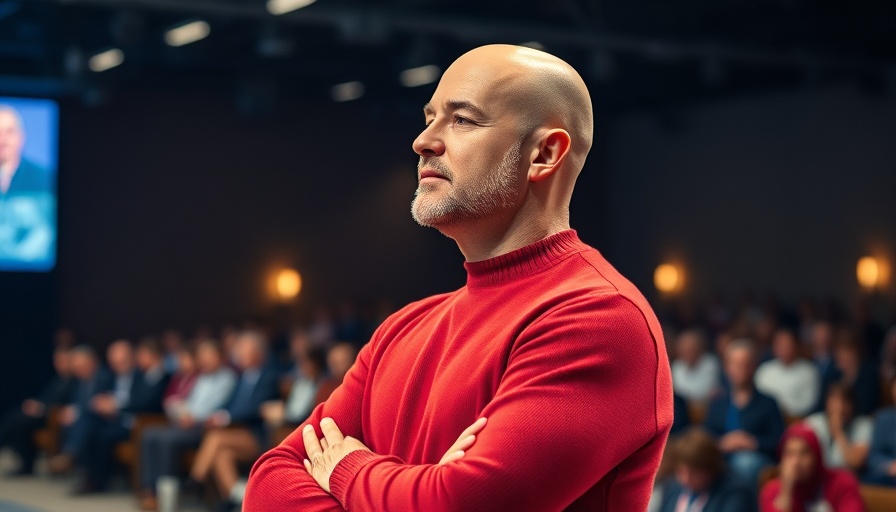
{"type": "Polygon", "coordinates": [[[413,144],[420,162],[411,207],[421,225],[477,221],[520,204],[523,116],[496,95],[494,81],[487,68],[452,66],[424,108],[426,129],[413,144]]]}

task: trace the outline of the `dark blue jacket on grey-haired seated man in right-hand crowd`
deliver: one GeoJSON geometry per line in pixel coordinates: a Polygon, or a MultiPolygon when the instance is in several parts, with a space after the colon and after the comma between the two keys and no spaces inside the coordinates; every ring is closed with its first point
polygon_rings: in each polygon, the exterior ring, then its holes
{"type": "MultiPolygon", "coordinates": [[[[709,402],[706,411],[706,429],[721,437],[731,429],[727,426],[731,394],[725,393],[709,402]]],[[[784,434],[784,417],[775,399],[753,390],[753,397],[739,411],[740,429],[748,432],[759,443],[759,452],[775,458],[778,441],[784,434]]]]}

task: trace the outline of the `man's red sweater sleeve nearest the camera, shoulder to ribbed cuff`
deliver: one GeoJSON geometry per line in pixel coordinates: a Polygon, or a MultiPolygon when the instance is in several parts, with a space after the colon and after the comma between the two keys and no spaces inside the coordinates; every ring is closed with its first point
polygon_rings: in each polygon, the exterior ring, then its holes
{"type": "Polygon", "coordinates": [[[652,482],[658,455],[643,448],[664,442],[672,420],[671,391],[657,395],[656,343],[623,297],[569,303],[516,340],[482,412],[488,424],[461,460],[409,465],[353,452],[331,492],[346,510],[552,511],[612,473],[609,492],[644,510],[650,485],[637,482],[652,482]]]}

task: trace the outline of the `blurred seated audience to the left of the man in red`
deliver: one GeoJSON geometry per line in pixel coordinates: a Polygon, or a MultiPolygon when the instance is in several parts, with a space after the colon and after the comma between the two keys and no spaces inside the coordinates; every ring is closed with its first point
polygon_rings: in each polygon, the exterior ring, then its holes
{"type": "Polygon", "coordinates": [[[52,381],[0,417],[0,448],[19,460],[6,476],[33,474],[49,452],[49,472],[77,476],[73,495],[105,491],[123,466],[142,510],[158,510],[160,492],[238,510],[252,463],[341,384],[373,330],[354,308],[337,311],[279,334],[254,322],[171,330],[104,354],[60,330],[52,381]]]}

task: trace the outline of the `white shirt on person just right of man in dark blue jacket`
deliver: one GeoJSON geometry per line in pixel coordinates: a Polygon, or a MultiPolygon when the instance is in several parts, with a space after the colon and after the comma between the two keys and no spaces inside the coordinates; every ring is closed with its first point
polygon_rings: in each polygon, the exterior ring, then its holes
{"type": "Polygon", "coordinates": [[[788,416],[805,416],[812,412],[821,393],[818,368],[804,359],[785,366],[772,359],[756,370],[756,389],[770,395],[788,416]]]}

